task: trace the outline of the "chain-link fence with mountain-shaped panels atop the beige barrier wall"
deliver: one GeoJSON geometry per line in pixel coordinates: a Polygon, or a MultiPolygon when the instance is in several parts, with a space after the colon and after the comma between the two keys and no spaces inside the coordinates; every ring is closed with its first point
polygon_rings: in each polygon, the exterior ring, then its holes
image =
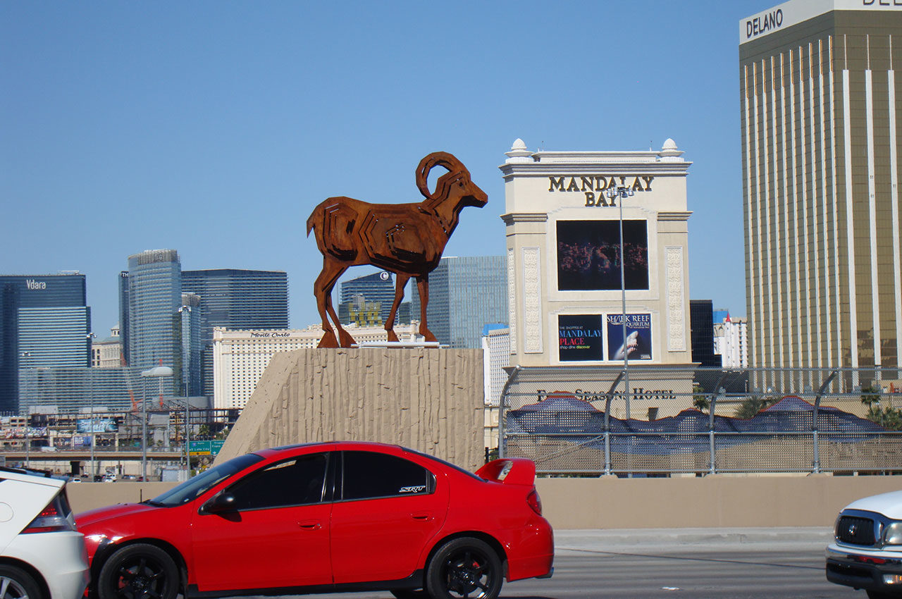
{"type": "Polygon", "coordinates": [[[897,473],[899,375],[518,366],[500,401],[499,454],[546,475],[897,473]]]}

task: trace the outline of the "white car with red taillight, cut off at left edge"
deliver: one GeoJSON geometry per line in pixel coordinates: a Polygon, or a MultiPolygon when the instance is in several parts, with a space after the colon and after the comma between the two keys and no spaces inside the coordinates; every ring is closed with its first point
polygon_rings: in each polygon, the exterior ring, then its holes
{"type": "Polygon", "coordinates": [[[0,466],[0,599],[78,599],[88,578],[66,482],[0,466]]]}

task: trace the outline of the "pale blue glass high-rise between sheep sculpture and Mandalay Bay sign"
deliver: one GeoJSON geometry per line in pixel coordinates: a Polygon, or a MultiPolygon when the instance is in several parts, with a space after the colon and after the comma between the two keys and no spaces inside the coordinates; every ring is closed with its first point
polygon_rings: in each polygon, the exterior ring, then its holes
{"type": "MultiPolygon", "coordinates": [[[[419,319],[419,291],[410,287],[410,318],[419,319]]],[[[507,324],[507,302],[504,256],[442,258],[429,273],[427,326],[442,345],[478,349],[483,326],[507,324]]]]}

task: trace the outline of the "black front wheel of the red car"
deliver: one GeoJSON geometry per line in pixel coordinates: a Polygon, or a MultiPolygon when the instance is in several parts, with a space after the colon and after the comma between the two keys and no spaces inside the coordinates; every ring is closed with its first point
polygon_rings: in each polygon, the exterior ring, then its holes
{"type": "Polygon", "coordinates": [[[118,549],[97,576],[99,599],[175,599],[179,568],[155,545],[140,543],[118,549]]]}

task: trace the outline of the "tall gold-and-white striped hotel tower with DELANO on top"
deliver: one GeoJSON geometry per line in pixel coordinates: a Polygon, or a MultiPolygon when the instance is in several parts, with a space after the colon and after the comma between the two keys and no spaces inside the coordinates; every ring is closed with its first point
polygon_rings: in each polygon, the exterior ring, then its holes
{"type": "Polygon", "coordinates": [[[792,0],[739,29],[751,362],[895,369],[902,0],[792,0]]]}

